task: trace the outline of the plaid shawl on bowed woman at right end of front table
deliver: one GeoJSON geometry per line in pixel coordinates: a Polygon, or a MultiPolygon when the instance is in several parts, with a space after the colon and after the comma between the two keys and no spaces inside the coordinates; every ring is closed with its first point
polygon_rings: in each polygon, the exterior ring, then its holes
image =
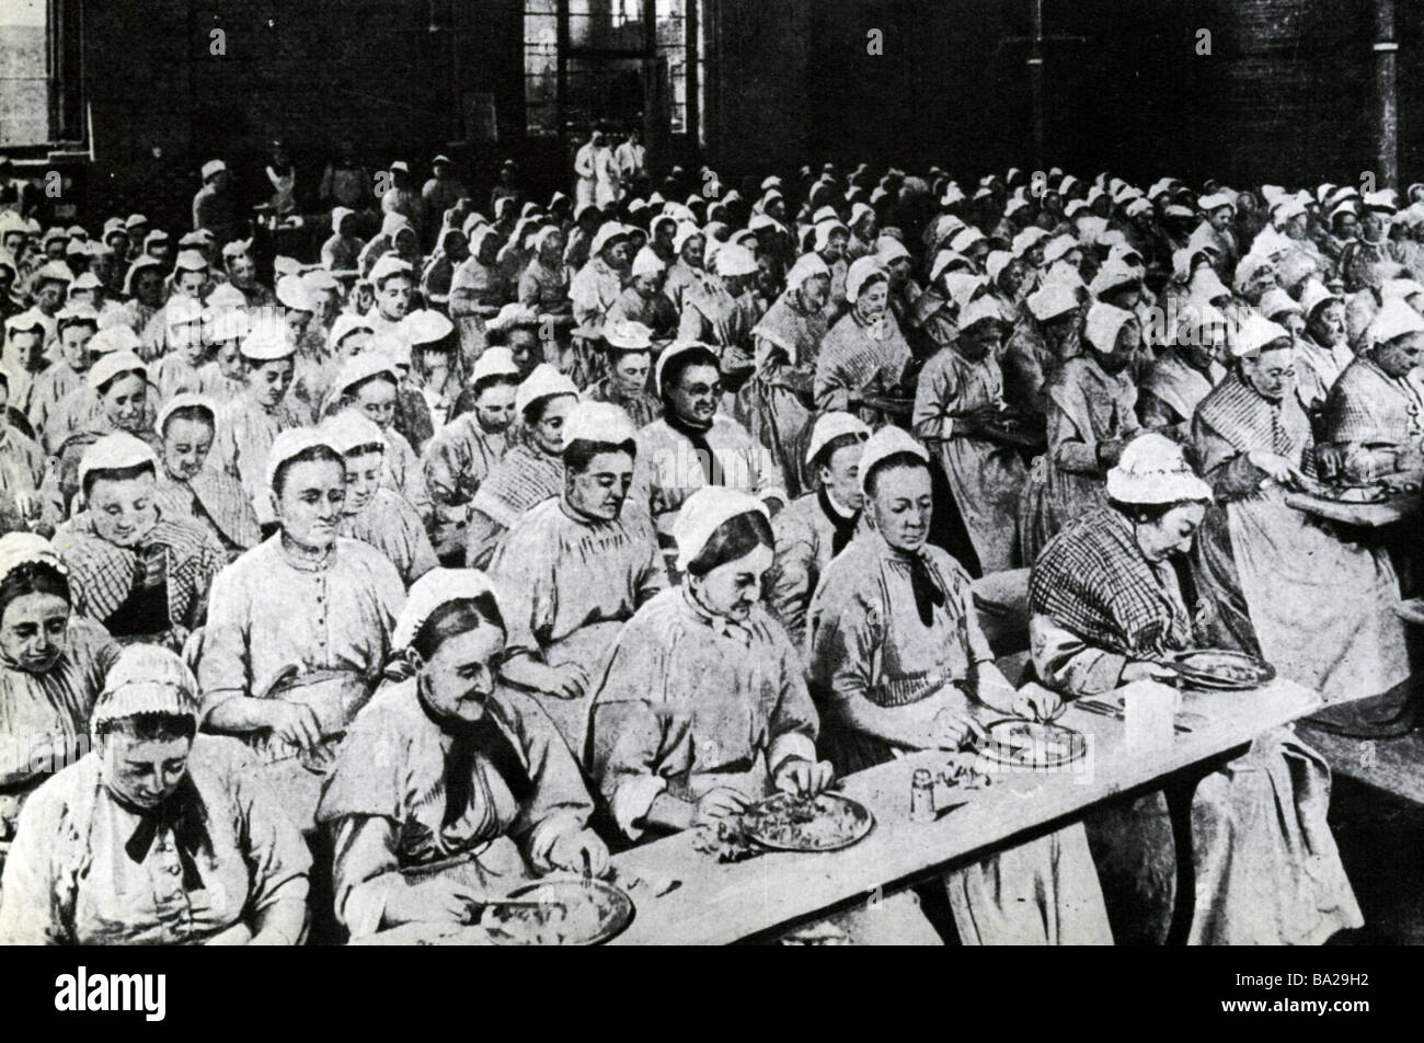
{"type": "Polygon", "coordinates": [[[1173,581],[1142,556],[1128,520],[1099,507],[1044,547],[1028,580],[1028,606],[1099,648],[1161,655],[1192,640],[1186,607],[1165,586],[1173,581]]]}

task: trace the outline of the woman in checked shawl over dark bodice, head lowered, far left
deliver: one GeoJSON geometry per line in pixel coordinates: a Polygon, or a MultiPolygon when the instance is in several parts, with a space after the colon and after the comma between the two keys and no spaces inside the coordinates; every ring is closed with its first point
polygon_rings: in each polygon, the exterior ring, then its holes
{"type": "Polygon", "coordinates": [[[121,644],[181,651],[204,623],[225,557],[201,524],[158,506],[157,473],[154,450],[132,435],[93,443],[78,470],[84,510],[56,530],[54,547],[80,614],[121,644]]]}

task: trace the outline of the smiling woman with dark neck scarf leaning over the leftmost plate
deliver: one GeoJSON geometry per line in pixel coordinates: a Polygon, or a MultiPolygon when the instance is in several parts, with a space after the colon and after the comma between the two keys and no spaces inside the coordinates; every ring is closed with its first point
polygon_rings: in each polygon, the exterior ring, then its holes
{"type": "Polygon", "coordinates": [[[534,873],[607,869],[577,762],[538,704],[501,681],[506,633],[481,573],[439,569],[410,588],[394,668],[356,717],[316,812],[353,939],[468,923],[481,899],[534,873]],[[457,856],[467,861],[454,871],[412,872],[457,856]]]}

